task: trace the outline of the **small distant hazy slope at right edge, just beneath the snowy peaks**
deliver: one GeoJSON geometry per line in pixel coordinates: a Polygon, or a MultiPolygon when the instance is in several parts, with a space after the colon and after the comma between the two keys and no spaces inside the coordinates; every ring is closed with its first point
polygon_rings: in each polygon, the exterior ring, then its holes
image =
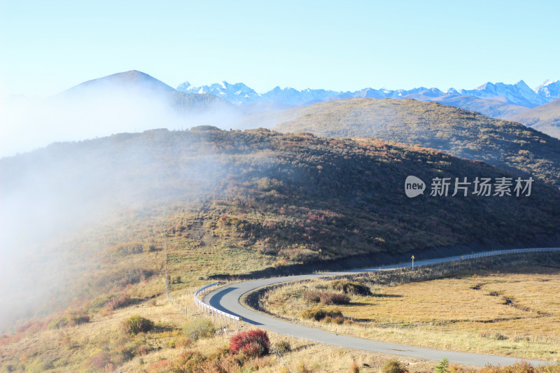
{"type": "Polygon", "coordinates": [[[510,120],[560,139],[560,99],[515,115],[510,120]]]}

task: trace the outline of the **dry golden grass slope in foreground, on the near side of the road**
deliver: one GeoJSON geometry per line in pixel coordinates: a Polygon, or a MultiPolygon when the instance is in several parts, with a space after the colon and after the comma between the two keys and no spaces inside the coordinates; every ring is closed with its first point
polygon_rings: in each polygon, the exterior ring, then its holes
{"type": "MultiPolygon", "coordinates": [[[[175,346],[175,342],[184,338],[180,328],[186,321],[207,316],[194,306],[192,296],[192,292],[183,292],[174,298],[173,304],[165,297],[158,297],[116,309],[111,316],[94,315],[90,323],[62,330],[43,330],[6,344],[0,350],[0,371],[8,371],[9,365],[9,369],[16,372],[103,372],[104,368],[95,368],[88,363],[91,356],[99,351],[116,351],[127,343],[134,343],[148,346],[148,353],[144,356],[136,354],[123,361],[113,358],[116,361],[114,367],[122,369],[122,372],[158,372],[153,366],[160,360],[173,362],[185,349],[194,349],[208,356],[228,346],[230,337],[235,333],[254,328],[252,325],[230,324],[214,318],[218,330],[214,337],[200,339],[188,347],[175,346]],[[185,307],[186,312],[180,312],[179,306],[185,307]],[[120,323],[133,315],[149,318],[160,328],[167,326],[167,330],[134,337],[123,335],[120,323]]],[[[269,337],[272,344],[288,341],[292,351],[284,353],[282,359],[271,354],[250,362],[249,365],[255,370],[258,368],[259,372],[287,372],[288,367],[290,372],[342,373],[349,371],[353,361],[360,366],[360,372],[378,372],[383,363],[391,358],[387,354],[342,349],[276,333],[269,333],[269,337]]],[[[401,360],[408,365],[410,372],[426,372],[435,364],[414,358],[401,360]]]]}

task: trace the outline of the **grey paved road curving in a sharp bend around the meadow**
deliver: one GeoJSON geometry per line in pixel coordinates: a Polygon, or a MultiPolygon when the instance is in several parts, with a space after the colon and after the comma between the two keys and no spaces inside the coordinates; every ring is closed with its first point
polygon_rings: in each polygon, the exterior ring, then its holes
{"type": "MultiPolygon", "coordinates": [[[[560,251],[560,248],[554,248],[554,250],[560,251]]],[[[491,253],[496,253],[496,252],[491,252],[491,253]]],[[[477,254],[477,255],[484,255],[484,253],[477,254]]],[[[461,259],[461,256],[440,258],[440,259],[433,259],[433,260],[421,260],[418,262],[414,262],[414,267],[433,264],[437,262],[448,262],[457,259],[461,259]]],[[[397,267],[410,267],[411,265],[412,263],[407,263],[404,265],[392,265],[392,266],[384,266],[384,267],[369,268],[369,269],[356,269],[353,271],[346,271],[346,272],[328,272],[322,274],[285,276],[285,277],[277,277],[274,279],[262,279],[262,280],[254,280],[254,281],[245,281],[242,283],[233,283],[207,294],[204,297],[203,302],[210,304],[212,307],[215,307],[216,309],[219,309],[221,311],[225,311],[228,312],[229,314],[239,316],[246,323],[258,326],[258,328],[270,330],[272,332],[277,332],[282,335],[307,339],[312,342],[332,344],[335,346],[343,346],[343,347],[349,347],[351,349],[360,349],[365,351],[392,353],[394,355],[408,356],[414,358],[426,358],[430,360],[441,360],[442,358],[448,358],[449,361],[454,363],[462,363],[462,364],[470,364],[470,365],[486,365],[486,364],[511,365],[514,364],[516,361],[520,360],[516,358],[507,358],[504,356],[490,356],[490,355],[481,355],[476,353],[461,353],[461,352],[454,352],[454,351],[439,351],[433,349],[423,349],[421,347],[404,346],[400,344],[391,344],[386,342],[372,341],[369,339],[360,339],[355,337],[336,335],[330,332],[324,332],[322,330],[307,328],[302,325],[288,323],[287,321],[282,321],[277,318],[273,318],[271,316],[261,314],[259,312],[253,311],[252,309],[248,309],[244,307],[239,302],[239,299],[245,293],[248,293],[251,290],[260,288],[262,286],[272,285],[273,283],[298,281],[298,280],[312,279],[312,278],[323,277],[323,276],[346,275],[349,273],[377,271],[377,270],[392,269],[397,267]]],[[[532,363],[534,365],[542,365],[547,363],[540,360],[528,360],[528,359],[525,360],[528,363],[532,363]]]]}

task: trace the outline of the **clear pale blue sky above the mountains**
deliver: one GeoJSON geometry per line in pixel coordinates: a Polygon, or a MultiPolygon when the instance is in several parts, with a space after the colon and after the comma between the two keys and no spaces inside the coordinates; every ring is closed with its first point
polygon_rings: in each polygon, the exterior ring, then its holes
{"type": "Polygon", "coordinates": [[[560,78],[559,3],[0,0],[0,94],[131,69],[257,92],[535,87],[560,78]]]}

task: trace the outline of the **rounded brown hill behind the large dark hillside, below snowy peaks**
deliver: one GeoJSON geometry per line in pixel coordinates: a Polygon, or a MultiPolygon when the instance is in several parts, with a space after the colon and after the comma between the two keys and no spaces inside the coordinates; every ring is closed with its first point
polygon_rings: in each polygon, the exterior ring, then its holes
{"type": "MultiPolygon", "coordinates": [[[[412,99],[346,99],[273,113],[280,132],[419,144],[560,188],[560,141],[515,122],[412,99]]],[[[266,121],[266,118],[265,118],[266,121]]]]}

